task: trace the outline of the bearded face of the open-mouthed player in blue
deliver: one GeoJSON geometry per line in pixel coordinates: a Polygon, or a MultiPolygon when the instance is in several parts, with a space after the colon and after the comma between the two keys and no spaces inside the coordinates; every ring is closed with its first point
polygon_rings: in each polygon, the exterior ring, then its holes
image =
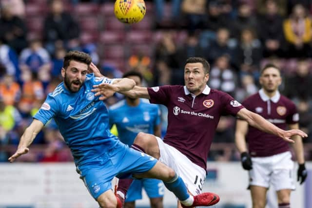
{"type": "Polygon", "coordinates": [[[67,69],[62,68],[62,77],[65,87],[75,93],[78,92],[88,74],[88,65],[82,62],[71,60],[67,69]]]}

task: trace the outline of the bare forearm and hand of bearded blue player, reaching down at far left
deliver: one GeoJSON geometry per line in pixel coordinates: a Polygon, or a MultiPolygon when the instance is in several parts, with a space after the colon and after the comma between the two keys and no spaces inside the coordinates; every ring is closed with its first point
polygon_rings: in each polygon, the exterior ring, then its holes
{"type": "Polygon", "coordinates": [[[11,163],[22,154],[29,151],[28,146],[34,141],[36,135],[41,131],[43,123],[37,119],[27,127],[23,135],[20,137],[20,144],[17,151],[8,159],[11,163]]]}

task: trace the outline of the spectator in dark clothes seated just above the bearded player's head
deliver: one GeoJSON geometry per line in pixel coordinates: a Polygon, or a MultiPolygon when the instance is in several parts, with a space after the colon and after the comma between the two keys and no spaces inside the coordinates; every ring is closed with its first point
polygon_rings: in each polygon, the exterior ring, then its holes
{"type": "Polygon", "coordinates": [[[52,55],[56,44],[63,44],[66,49],[79,47],[80,28],[70,13],[63,11],[61,0],[52,0],[51,12],[44,20],[43,37],[46,48],[52,55]]]}

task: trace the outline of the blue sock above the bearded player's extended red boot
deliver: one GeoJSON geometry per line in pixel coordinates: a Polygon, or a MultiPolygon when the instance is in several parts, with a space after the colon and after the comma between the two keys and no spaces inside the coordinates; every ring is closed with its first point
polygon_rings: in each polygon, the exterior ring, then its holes
{"type": "Polygon", "coordinates": [[[177,174],[170,181],[164,181],[164,185],[167,187],[168,190],[172,191],[180,201],[184,201],[190,197],[184,181],[177,174]]]}

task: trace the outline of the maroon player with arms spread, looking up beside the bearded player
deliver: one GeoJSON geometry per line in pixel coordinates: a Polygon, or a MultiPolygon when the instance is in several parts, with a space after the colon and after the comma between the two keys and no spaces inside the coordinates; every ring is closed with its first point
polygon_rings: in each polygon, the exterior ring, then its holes
{"type": "MultiPolygon", "coordinates": [[[[230,95],[209,88],[206,84],[209,70],[209,63],[205,59],[188,58],[184,68],[185,86],[135,86],[133,90],[123,92],[129,97],[148,98],[151,103],[167,106],[168,127],[164,140],[141,132],[132,147],[156,157],[175,170],[193,195],[201,192],[206,178],[207,155],[221,115],[242,117],[250,125],[278,135],[288,142],[293,142],[290,139],[292,135],[307,136],[300,130],[281,130],[258,114],[245,109],[230,95]]],[[[95,95],[104,95],[109,88],[107,85],[94,87],[93,92],[97,92],[95,95]]],[[[100,97],[104,98],[105,96],[100,97]]],[[[130,184],[120,180],[118,193],[125,195],[127,186],[130,184]]],[[[210,205],[218,201],[219,197],[213,195],[210,205]]]]}

